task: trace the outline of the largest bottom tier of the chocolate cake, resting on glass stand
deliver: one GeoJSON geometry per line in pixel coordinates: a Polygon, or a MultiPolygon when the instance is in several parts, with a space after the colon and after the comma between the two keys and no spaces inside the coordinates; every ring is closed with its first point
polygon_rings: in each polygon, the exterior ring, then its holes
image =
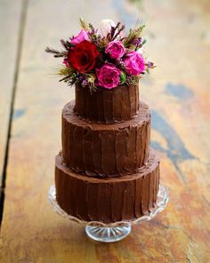
{"type": "Polygon", "coordinates": [[[159,160],[150,151],[148,164],[133,175],[86,177],[68,168],[56,156],[56,199],[69,215],[85,221],[113,223],[140,218],[155,207],[159,160]]]}

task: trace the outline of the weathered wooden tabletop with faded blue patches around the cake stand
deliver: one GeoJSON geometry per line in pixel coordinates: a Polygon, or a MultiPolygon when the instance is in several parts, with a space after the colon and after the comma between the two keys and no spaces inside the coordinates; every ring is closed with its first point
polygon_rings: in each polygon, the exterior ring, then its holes
{"type": "Polygon", "coordinates": [[[209,12],[208,0],[0,1],[0,262],[210,262],[209,12]],[[141,99],[152,110],[151,144],[170,201],[122,242],[97,243],[48,202],[61,109],[74,89],[58,83],[59,61],[44,47],[76,34],[79,17],[132,27],[139,14],[158,65],[141,99]]]}

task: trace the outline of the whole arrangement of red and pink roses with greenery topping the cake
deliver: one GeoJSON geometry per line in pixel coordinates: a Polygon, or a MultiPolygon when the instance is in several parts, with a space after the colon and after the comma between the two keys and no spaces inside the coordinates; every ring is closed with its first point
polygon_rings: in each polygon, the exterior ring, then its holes
{"type": "Polygon", "coordinates": [[[81,31],[76,37],[61,39],[62,51],[46,47],[47,53],[63,58],[58,74],[69,86],[76,83],[96,90],[119,85],[136,85],[155,66],[143,57],[145,40],[141,38],[144,25],[130,29],[125,25],[102,20],[99,29],[80,19],[81,31]]]}

